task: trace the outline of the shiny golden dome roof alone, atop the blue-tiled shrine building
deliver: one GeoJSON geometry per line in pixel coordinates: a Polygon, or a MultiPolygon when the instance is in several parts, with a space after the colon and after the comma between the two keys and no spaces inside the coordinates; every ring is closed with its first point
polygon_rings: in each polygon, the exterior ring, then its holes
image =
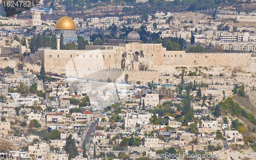
{"type": "Polygon", "coordinates": [[[68,16],[60,18],[56,23],[56,30],[76,30],[76,23],[68,16]]]}

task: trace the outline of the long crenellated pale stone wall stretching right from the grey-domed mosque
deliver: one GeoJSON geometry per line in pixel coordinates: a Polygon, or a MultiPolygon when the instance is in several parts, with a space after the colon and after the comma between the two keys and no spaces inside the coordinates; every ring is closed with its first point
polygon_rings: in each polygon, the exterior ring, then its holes
{"type": "Polygon", "coordinates": [[[175,53],[166,51],[155,67],[241,67],[247,72],[256,71],[256,57],[250,53],[175,53]]]}

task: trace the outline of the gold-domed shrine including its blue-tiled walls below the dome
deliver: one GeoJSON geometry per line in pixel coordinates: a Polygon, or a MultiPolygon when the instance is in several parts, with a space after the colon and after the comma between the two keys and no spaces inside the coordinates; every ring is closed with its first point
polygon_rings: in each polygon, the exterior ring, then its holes
{"type": "Polygon", "coordinates": [[[58,37],[63,34],[64,44],[77,42],[76,23],[68,16],[64,16],[57,21],[55,32],[58,37]]]}

